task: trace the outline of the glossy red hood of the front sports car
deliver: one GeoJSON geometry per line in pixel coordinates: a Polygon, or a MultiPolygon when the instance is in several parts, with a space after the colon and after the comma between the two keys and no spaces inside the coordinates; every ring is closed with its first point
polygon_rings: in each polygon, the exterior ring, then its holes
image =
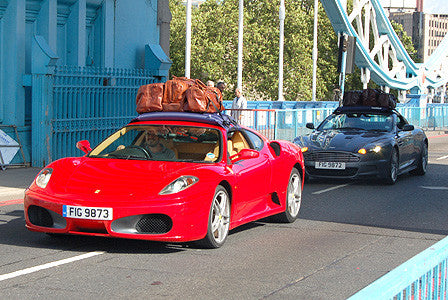
{"type": "Polygon", "coordinates": [[[100,200],[156,197],[181,175],[198,176],[204,164],[83,157],[62,159],[49,167],[53,174],[47,193],[100,200]]]}

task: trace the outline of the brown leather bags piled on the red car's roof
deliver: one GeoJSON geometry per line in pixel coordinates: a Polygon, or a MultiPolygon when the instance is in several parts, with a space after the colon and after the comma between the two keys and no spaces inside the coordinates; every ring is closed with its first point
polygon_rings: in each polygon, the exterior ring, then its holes
{"type": "Polygon", "coordinates": [[[165,83],[143,85],[137,92],[137,112],[154,111],[220,112],[221,91],[198,79],[173,77],[165,83]]]}

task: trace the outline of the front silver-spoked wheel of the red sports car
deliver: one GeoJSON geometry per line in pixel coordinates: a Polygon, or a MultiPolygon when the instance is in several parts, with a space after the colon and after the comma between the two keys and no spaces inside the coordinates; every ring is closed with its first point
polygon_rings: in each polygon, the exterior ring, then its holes
{"type": "Polygon", "coordinates": [[[207,235],[204,239],[199,241],[199,245],[210,249],[221,247],[229,234],[229,225],[229,193],[227,193],[227,190],[224,187],[218,185],[210,207],[207,235]]]}

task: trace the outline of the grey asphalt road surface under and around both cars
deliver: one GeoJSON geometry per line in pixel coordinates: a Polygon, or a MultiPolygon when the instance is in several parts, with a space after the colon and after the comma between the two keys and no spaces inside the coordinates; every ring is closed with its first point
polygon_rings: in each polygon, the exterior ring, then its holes
{"type": "Polygon", "coordinates": [[[428,173],[394,186],[307,183],[295,223],[245,225],[215,250],[29,232],[14,203],[38,170],[0,171],[0,297],[345,299],[448,235],[448,137],[429,151],[428,173]]]}

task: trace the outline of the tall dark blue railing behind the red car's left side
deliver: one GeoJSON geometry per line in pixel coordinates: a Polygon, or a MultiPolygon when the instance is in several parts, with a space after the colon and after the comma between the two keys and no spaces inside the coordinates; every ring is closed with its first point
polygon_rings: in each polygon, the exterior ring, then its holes
{"type": "Polygon", "coordinates": [[[43,91],[33,97],[33,166],[82,155],[79,140],[97,145],[136,116],[138,88],[159,80],[143,69],[94,67],[57,67],[41,77],[33,80],[33,92],[43,91]]]}

